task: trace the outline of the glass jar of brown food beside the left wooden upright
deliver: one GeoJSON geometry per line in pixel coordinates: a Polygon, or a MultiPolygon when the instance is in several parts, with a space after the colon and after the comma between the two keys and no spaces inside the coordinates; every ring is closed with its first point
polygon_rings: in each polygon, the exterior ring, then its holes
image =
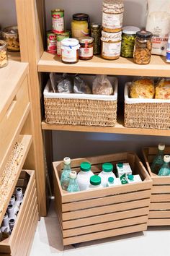
{"type": "Polygon", "coordinates": [[[2,39],[7,43],[8,51],[20,51],[18,27],[5,27],[1,32],[2,39]]]}

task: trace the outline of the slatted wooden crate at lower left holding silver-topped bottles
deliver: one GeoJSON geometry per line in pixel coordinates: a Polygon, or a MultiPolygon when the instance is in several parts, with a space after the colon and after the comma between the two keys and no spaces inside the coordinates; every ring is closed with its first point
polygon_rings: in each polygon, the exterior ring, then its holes
{"type": "Polygon", "coordinates": [[[24,199],[11,236],[0,242],[0,255],[4,256],[27,255],[38,221],[35,171],[22,171],[17,187],[22,187],[24,199]]]}

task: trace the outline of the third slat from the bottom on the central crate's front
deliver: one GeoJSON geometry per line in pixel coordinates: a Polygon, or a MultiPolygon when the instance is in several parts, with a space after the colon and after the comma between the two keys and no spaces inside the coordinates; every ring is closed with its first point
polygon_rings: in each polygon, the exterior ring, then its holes
{"type": "Polygon", "coordinates": [[[146,207],[146,208],[140,208],[140,209],[125,210],[118,213],[107,213],[100,216],[88,217],[88,218],[84,218],[83,221],[81,218],[78,218],[73,221],[63,221],[63,230],[72,229],[72,228],[81,227],[81,226],[88,226],[88,225],[97,224],[97,223],[104,223],[108,221],[116,221],[120,219],[123,220],[125,218],[132,218],[135,216],[144,216],[148,214],[148,210],[149,210],[148,207],[146,207]],[[139,214],[139,210],[140,210],[140,214],[139,214]]]}

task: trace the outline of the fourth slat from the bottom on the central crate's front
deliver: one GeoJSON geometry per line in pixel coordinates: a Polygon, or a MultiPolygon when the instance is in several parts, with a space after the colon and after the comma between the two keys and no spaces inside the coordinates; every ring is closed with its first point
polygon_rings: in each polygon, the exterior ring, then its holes
{"type": "Polygon", "coordinates": [[[73,220],[76,218],[84,218],[84,217],[91,217],[91,216],[99,216],[106,213],[113,213],[116,211],[122,211],[122,210],[130,210],[135,208],[142,208],[145,206],[148,206],[150,202],[150,199],[146,200],[136,200],[133,202],[122,202],[119,204],[114,205],[106,205],[96,208],[89,208],[87,210],[76,210],[68,213],[62,214],[63,221],[66,220],[73,220]]]}

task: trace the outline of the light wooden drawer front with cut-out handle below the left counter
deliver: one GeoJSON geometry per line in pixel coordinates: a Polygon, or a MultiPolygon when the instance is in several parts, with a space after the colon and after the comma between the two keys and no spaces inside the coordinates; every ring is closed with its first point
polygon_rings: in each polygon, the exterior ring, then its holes
{"type": "Polygon", "coordinates": [[[29,95],[28,95],[28,85],[27,76],[25,76],[22,85],[20,85],[19,90],[14,95],[9,108],[2,116],[0,122],[0,138],[1,138],[1,150],[0,150],[0,163],[4,158],[6,150],[8,150],[11,145],[14,136],[21,129],[21,122],[29,108],[29,95]]]}

